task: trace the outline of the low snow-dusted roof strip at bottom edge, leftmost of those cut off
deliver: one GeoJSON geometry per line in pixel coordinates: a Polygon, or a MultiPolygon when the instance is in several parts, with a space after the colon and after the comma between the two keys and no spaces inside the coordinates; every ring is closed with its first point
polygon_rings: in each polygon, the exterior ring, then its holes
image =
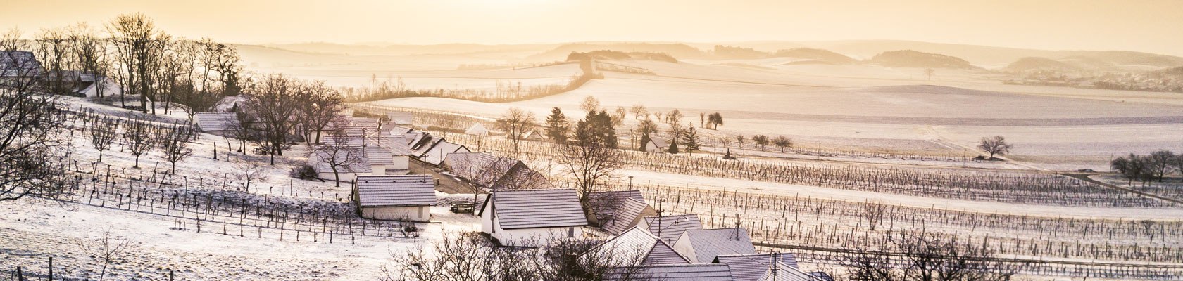
{"type": "Polygon", "coordinates": [[[641,268],[616,268],[605,274],[605,280],[636,281],[732,281],[731,270],[723,263],[660,264],[641,268]]]}

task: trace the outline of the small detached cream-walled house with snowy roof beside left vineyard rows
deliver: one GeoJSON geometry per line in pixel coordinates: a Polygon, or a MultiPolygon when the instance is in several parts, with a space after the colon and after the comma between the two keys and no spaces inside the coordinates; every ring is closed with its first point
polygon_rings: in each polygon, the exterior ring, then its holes
{"type": "Polygon", "coordinates": [[[426,222],[435,204],[435,181],[431,175],[358,176],[354,198],[366,218],[426,222]]]}

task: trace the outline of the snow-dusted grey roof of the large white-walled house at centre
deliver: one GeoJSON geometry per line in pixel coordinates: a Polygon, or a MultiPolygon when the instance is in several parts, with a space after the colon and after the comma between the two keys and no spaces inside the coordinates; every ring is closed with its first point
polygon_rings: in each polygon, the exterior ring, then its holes
{"type": "Polygon", "coordinates": [[[587,226],[574,189],[493,190],[478,215],[493,211],[502,229],[587,226]],[[492,208],[490,208],[492,207],[492,208]]]}

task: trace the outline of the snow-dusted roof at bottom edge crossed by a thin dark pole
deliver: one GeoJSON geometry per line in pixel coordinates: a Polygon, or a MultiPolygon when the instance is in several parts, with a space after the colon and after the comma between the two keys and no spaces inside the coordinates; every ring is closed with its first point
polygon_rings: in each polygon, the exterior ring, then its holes
{"type": "MultiPolygon", "coordinates": [[[[780,254],[776,281],[807,281],[806,273],[797,270],[797,260],[791,253],[780,254]]],[[[771,280],[772,254],[719,255],[713,263],[726,263],[731,267],[731,276],[736,281],[771,280]]]]}

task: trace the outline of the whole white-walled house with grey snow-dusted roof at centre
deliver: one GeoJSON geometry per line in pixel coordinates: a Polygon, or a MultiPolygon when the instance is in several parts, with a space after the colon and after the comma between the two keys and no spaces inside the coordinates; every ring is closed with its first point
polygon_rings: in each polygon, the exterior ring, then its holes
{"type": "Polygon", "coordinates": [[[483,233],[516,247],[580,237],[588,224],[574,189],[493,190],[477,215],[483,233]]]}

